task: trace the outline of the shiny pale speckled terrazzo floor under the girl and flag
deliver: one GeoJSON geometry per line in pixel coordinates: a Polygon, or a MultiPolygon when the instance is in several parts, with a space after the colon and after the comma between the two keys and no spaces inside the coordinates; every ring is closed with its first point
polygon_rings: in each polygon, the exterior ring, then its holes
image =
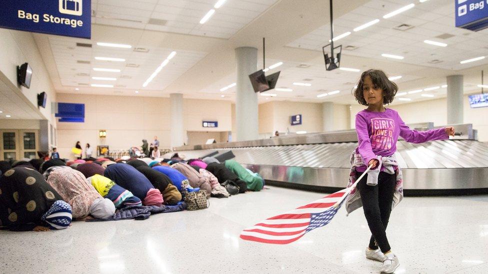
{"type": "MultiPolygon", "coordinates": [[[[242,229],[323,195],[269,187],[210,199],[200,211],[144,221],[73,222],[63,231],[0,231],[0,273],[379,273],[369,230],[341,208],[289,245],[243,241],[242,229]]],[[[388,224],[395,273],[488,273],[488,196],[406,197],[388,224]]]]}

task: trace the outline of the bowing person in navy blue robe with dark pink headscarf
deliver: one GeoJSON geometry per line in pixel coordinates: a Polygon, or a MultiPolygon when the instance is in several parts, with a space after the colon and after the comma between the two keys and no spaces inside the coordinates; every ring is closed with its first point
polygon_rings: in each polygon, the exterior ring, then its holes
{"type": "Polygon", "coordinates": [[[117,185],[132,192],[137,198],[142,200],[143,205],[156,205],[162,204],[162,196],[159,190],[159,198],[154,199],[154,191],[148,193],[149,190],[154,189],[151,182],[134,167],[127,164],[113,164],[108,166],[103,173],[103,176],[111,179],[117,185]],[[145,200],[146,196],[150,194],[148,200],[145,200]]]}

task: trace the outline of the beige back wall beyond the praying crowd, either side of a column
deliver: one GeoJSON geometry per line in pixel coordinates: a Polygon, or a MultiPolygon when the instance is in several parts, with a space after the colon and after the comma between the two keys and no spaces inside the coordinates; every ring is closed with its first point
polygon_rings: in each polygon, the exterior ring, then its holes
{"type": "MultiPolygon", "coordinates": [[[[80,141],[82,147],[89,143],[93,148],[108,145],[111,150],[126,150],[142,145],[142,139],[150,143],[156,135],[161,148],[170,146],[169,98],[58,93],[56,101],[85,104],[84,123],[58,122],[61,157],[73,157],[70,151],[76,141],[80,141]],[[100,129],[106,130],[106,138],[98,137],[100,129]]],[[[181,110],[184,128],[187,131],[230,131],[230,110],[228,101],[184,99],[181,110]],[[218,121],[218,128],[202,128],[202,120],[218,121]]],[[[219,132],[216,136],[220,140],[219,132]]]]}

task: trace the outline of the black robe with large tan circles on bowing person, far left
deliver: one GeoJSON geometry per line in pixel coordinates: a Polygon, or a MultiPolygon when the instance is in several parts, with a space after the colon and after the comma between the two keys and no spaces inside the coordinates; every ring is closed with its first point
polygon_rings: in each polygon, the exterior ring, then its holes
{"type": "Polygon", "coordinates": [[[12,168],[0,177],[0,223],[10,229],[32,230],[57,200],[61,196],[31,168],[12,168]]]}

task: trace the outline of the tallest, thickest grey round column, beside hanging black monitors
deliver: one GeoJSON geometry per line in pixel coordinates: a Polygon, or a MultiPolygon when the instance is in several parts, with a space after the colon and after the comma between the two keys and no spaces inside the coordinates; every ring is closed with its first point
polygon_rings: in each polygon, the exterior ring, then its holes
{"type": "Polygon", "coordinates": [[[257,48],[238,47],[235,49],[237,63],[235,98],[236,141],[255,140],[258,132],[257,93],[254,93],[249,74],[257,70],[257,48]]]}

